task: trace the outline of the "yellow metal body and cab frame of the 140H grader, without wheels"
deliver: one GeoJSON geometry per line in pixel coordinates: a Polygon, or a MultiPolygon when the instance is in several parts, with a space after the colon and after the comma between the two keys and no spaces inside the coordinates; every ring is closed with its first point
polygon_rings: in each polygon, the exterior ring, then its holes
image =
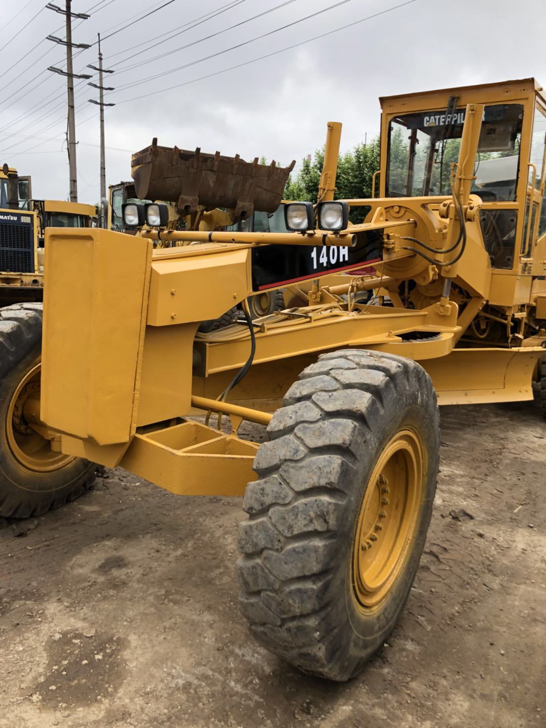
{"type": "MultiPolygon", "coordinates": [[[[460,339],[486,302],[504,307],[510,320],[521,323],[521,331],[531,315],[544,314],[546,236],[537,239],[535,224],[513,269],[491,269],[478,214],[487,205],[470,194],[484,104],[507,99],[523,104],[521,159],[529,159],[533,110],[545,104],[534,81],[456,90],[466,106],[455,183],[467,231],[467,247],[456,264],[440,273],[403,242],[408,236],[427,240],[441,257],[459,232],[451,196],[384,197],[389,120],[405,111],[441,111],[452,91],[381,100],[381,197],[349,200],[353,208],[371,209],[363,223],[340,234],[150,231],[133,237],[101,229],[50,229],[40,419],[52,447],[107,466],[119,464],[177,493],[242,494],[256,477],[257,446],[237,438],[240,422],[266,424],[298,373],[318,353],[340,347],[419,361],[432,377],[440,404],[531,399],[544,354],[543,329],[534,336],[522,334],[518,346],[465,347],[460,339]],[[376,274],[340,277],[339,285],[315,282],[303,294],[301,308],[258,320],[250,371],[229,402],[218,402],[219,392],[248,359],[249,333],[236,324],[196,336],[197,327],[253,293],[253,248],[270,243],[350,246],[355,235],[377,229],[384,231],[384,245],[376,274]],[[158,239],[201,244],[153,250],[152,241],[158,239]],[[74,270],[82,276],[76,279],[74,270]],[[470,293],[461,313],[448,286],[429,306],[403,306],[401,281],[429,285],[439,277],[470,293]],[[352,291],[366,289],[375,290],[380,300],[390,298],[391,305],[352,304],[352,291]],[[348,304],[341,301],[342,293],[349,294],[348,304]],[[184,419],[196,410],[228,415],[232,432],[184,419]]],[[[336,129],[331,125],[331,132],[336,129]]],[[[331,157],[327,149],[323,199],[333,196],[331,157]]],[[[544,165],[537,191],[527,181],[523,168],[518,201],[496,203],[518,207],[517,235],[523,234],[526,200],[541,203],[544,165]]]]}

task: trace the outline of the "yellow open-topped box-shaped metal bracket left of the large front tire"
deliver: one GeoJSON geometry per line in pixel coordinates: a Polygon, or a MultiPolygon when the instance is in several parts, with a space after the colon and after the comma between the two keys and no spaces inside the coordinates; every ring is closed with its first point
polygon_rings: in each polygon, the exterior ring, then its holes
{"type": "Polygon", "coordinates": [[[181,495],[240,496],[256,480],[258,446],[213,427],[183,422],[135,435],[120,465],[181,495]]]}

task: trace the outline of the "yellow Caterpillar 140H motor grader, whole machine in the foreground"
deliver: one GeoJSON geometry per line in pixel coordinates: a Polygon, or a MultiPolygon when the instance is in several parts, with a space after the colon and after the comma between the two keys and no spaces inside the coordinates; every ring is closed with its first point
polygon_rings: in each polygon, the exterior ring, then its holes
{"type": "MultiPolygon", "coordinates": [[[[177,494],[244,496],[237,571],[251,632],[339,681],[408,598],[435,495],[437,403],[530,400],[534,384],[546,398],[541,88],[438,90],[382,98],[381,110],[379,197],[333,199],[327,145],[320,202],[285,206],[292,232],[173,230],[156,203],[138,237],[49,229],[41,392],[39,314],[23,312],[2,411],[11,499],[70,493],[89,462],[177,494]],[[248,297],[288,283],[301,305],[251,320],[248,297]],[[363,290],[373,297],[360,304],[363,290]],[[236,323],[198,332],[236,304],[236,323]],[[266,425],[266,442],[239,438],[243,419],[266,425]]],[[[194,205],[186,161],[157,145],[135,154],[138,198],[194,205]]],[[[233,189],[239,165],[222,167],[233,189]]],[[[193,167],[204,186],[219,168],[193,167]]],[[[124,215],[138,224],[130,204],[124,215]]]]}

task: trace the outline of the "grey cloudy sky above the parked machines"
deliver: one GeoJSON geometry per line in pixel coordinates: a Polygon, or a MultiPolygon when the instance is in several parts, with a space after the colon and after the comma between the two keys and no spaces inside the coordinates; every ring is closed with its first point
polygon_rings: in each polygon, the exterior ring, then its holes
{"type": "MultiPolygon", "coordinates": [[[[66,68],[66,52],[46,40],[65,37],[64,16],[45,4],[1,0],[0,164],[31,174],[33,197],[67,199],[66,79],[47,71],[66,68]]],[[[95,74],[97,33],[115,71],[107,185],[130,178],[131,153],[154,136],[299,165],[328,120],[344,124],[342,149],[376,135],[379,95],[546,83],[545,0],[73,0],[72,11],[90,15],[74,19],[73,41],[93,44],[74,50],[74,71],[95,74]]],[[[94,203],[98,91],[75,84],[79,201],[94,203]]]]}

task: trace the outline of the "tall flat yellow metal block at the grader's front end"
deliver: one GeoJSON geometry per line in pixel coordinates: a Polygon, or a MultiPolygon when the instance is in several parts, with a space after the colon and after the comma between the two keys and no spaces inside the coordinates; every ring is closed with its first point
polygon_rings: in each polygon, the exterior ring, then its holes
{"type": "Polygon", "coordinates": [[[100,445],[126,443],[135,431],[151,245],[108,230],[52,228],[45,250],[42,419],[100,445]]]}

